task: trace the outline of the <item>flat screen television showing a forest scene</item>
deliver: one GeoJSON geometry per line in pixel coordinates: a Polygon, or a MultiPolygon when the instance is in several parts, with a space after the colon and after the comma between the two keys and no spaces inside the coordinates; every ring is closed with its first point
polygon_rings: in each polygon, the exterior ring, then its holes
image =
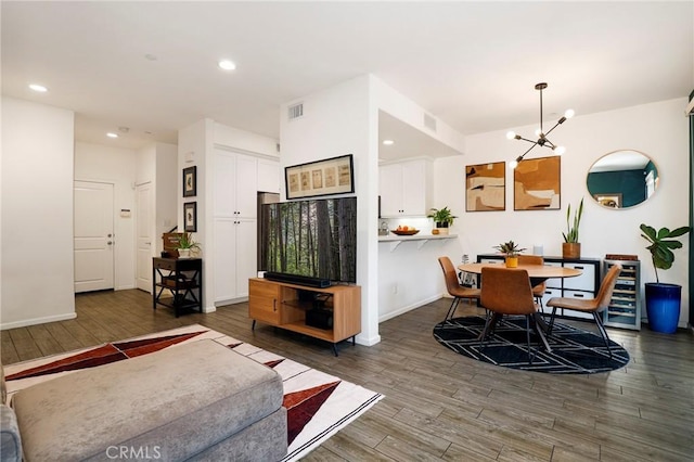
{"type": "Polygon", "coordinates": [[[295,275],[320,286],[357,282],[357,197],[264,204],[259,224],[266,278],[295,275]]]}

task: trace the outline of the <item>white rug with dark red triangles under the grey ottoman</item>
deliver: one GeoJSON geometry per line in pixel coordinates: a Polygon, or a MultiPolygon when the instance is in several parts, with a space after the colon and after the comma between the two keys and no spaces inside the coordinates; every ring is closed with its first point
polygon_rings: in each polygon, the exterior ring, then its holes
{"type": "Polygon", "coordinates": [[[4,373],[8,395],[10,397],[22,388],[79,369],[124,361],[203,338],[211,338],[266,364],[282,377],[282,406],[287,410],[288,441],[287,454],[283,461],[294,461],[306,455],[383,398],[381,394],[200,324],[7,364],[4,373]]]}

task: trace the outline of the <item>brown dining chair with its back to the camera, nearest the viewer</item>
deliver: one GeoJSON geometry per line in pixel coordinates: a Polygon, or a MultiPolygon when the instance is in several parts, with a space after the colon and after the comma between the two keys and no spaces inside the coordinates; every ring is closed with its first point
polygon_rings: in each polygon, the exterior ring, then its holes
{"type": "MultiPolygon", "coordinates": [[[[530,329],[536,322],[535,315],[539,307],[535,303],[528,271],[522,268],[503,268],[501,266],[499,268],[483,268],[480,303],[492,313],[487,319],[485,330],[481,333],[480,346],[484,347],[487,336],[493,332],[496,323],[503,315],[523,315],[526,321],[528,362],[532,364],[535,355],[530,348],[530,329]]],[[[542,330],[538,326],[536,331],[542,343],[547,345],[542,330]]]]}

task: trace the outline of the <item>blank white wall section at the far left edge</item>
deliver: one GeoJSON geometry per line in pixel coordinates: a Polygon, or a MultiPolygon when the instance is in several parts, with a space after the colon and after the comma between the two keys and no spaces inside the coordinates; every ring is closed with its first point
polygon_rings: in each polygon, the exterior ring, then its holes
{"type": "Polygon", "coordinates": [[[74,119],[2,97],[0,329],[75,318],[74,119]]]}

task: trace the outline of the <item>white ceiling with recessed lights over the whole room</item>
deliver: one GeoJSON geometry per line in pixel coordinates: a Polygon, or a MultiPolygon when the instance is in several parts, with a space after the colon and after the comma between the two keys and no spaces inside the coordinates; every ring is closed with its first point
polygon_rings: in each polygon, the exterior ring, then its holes
{"type": "MultiPolygon", "coordinates": [[[[74,110],[78,140],[123,147],[176,143],[178,129],[204,117],[279,139],[280,104],[367,73],[464,134],[536,124],[540,81],[549,82],[545,120],[567,107],[580,116],[694,89],[692,1],[1,9],[3,94],[74,110]],[[237,69],[217,68],[220,57],[237,69]],[[129,131],[104,137],[118,127],[129,131]]],[[[382,131],[402,128],[382,121],[382,131]]],[[[421,137],[409,136],[398,155],[422,151],[421,137]]]]}

